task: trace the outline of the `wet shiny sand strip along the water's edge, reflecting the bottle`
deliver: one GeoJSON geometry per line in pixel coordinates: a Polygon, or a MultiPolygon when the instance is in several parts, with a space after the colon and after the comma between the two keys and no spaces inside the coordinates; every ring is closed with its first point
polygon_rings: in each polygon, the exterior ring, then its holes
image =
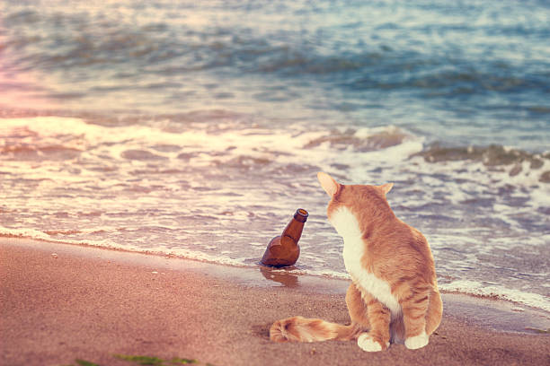
{"type": "MultiPolygon", "coordinates": [[[[199,259],[137,252],[122,248],[103,248],[86,244],[63,243],[53,240],[35,240],[21,237],[0,237],[0,245],[8,244],[23,248],[40,249],[46,252],[65,252],[70,255],[96,257],[151,268],[188,271],[208,274],[216,278],[230,279],[243,285],[266,288],[288,287],[309,289],[329,294],[344,294],[349,280],[329,275],[299,274],[280,268],[262,266],[232,266],[199,259]]],[[[466,292],[439,290],[449,316],[469,318],[481,327],[492,330],[536,334],[532,330],[541,326],[550,329],[550,312],[526,304],[508,301],[499,297],[476,295],[466,292]],[[478,312],[481,311],[481,314],[478,312]],[[489,316],[493,321],[487,321],[489,316]]]]}

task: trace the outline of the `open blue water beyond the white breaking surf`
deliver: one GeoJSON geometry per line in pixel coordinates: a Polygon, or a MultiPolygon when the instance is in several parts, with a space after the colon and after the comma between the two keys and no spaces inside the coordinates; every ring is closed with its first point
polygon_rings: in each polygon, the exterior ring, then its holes
{"type": "Polygon", "coordinates": [[[550,137],[546,2],[4,0],[0,12],[5,109],[236,109],[529,151],[550,137]]]}

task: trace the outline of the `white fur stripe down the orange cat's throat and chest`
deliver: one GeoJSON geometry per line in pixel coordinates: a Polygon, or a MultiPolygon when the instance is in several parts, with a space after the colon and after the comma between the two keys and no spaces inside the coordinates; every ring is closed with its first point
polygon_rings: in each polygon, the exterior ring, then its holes
{"type": "Polygon", "coordinates": [[[330,221],[344,240],[344,264],[353,281],[359,284],[361,290],[369,292],[386,305],[392,313],[392,318],[400,314],[401,305],[392,294],[389,283],[361,266],[361,258],[365,255],[365,244],[355,215],[347,207],[340,207],[333,212],[330,221]]]}

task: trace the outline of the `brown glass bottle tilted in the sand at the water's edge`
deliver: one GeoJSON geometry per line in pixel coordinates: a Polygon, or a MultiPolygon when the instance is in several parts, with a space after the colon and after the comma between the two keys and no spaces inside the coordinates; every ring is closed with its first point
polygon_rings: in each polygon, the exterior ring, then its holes
{"type": "Polygon", "coordinates": [[[302,236],[304,223],[309,214],[303,208],[298,208],[294,217],[288,222],[281,235],[271,239],[262,257],[265,266],[292,266],[300,256],[298,240],[302,236]]]}

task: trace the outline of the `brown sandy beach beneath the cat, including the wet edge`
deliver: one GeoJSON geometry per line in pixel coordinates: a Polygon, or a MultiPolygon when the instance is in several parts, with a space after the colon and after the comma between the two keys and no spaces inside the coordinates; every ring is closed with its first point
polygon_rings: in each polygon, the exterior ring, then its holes
{"type": "Polygon", "coordinates": [[[2,239],[0,364],[135,364],[113,354],[213,365],[550,363],[550,335],[528,329],[547,329],[546,313],[456,294],[444,294],[441,326],[421,350],[271,343],[268,328],[279,318],[347,322],[345,287],[260,268],[2,239]]]}

